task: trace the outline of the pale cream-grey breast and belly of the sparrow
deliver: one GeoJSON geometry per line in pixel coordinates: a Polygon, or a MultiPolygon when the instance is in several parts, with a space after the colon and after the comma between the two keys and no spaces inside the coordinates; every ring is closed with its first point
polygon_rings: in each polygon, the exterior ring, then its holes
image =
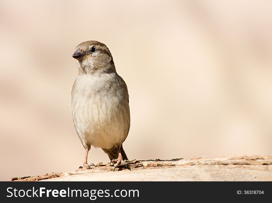
{"type": "Polygon", "coordinates": [[[108,148],[125,140],[130,128],[128,93],[117,82],[84,77],[75,81],[72,116],[82,142],[108,148]]]}

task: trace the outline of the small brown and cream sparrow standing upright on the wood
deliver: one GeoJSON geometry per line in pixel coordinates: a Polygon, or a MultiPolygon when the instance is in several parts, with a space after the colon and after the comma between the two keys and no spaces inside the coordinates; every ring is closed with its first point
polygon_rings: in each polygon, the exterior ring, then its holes
{"type": "Polygon", "coordinates": [[[77,45],[72,54],[77,60],[79,74],[71,92],[71,110],[74,127],[85,148],[83,167],[91,146],[108,154],[114,169],[128,160],[123,142],[130,130],[128,88],[116,72],[108,47],[98,41],[77,45]],[[114,164],[116,163],[116,164],[114,164]]]}

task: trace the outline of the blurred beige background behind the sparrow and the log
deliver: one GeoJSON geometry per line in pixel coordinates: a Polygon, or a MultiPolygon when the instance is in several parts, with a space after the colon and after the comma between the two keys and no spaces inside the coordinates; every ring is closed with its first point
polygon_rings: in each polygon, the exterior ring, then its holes
{"type": "Polygon", "coordinates": [[[271,155],[271,36],[271,1],[1,0],[0,180],[82,165],[71,54],[87,40],[128,85],[129,159],[271,155]]]}

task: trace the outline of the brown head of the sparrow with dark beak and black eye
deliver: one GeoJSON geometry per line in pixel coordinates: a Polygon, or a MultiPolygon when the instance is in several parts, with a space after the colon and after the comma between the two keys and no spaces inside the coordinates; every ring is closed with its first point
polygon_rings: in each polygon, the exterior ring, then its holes
{"type": "Polygon", "coordinates": [[[72,57],[77,60],[79,73],[82,74],[115,71],[112,54],[105,44],[98,41],[80,43],[72,57]]]}

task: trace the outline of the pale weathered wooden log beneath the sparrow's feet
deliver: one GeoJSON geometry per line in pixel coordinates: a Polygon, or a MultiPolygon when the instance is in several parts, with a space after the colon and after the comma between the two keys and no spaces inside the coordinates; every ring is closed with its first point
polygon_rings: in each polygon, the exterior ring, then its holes
{"type": "Polygon", "coordinates": [[[43,176],[14,177],[10,181],[272,181],[272,156],[198,157],[172,160],[132,160],[129,167],[99,163],[92,169],[43,176]]]}

